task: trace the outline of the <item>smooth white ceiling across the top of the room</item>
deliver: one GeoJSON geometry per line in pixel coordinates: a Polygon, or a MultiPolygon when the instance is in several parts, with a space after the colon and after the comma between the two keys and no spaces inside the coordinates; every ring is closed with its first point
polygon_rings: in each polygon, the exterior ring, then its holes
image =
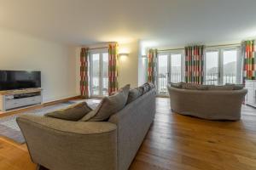
{"type": "Polygon", "coordinates": [[[0,26],[67,44],[256,37],[256,0],[0,0],[0,26]]]}

